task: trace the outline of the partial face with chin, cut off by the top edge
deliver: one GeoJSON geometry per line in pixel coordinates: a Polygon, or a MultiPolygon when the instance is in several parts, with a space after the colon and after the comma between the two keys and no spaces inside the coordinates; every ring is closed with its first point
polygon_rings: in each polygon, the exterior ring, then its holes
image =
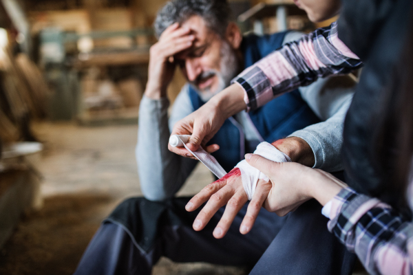
{"type": "Polygon", "coordinates": [[[340,0],[294,0],[295,5],[305,10],[310,21],[320,22],[339,13],[340,0]]]}

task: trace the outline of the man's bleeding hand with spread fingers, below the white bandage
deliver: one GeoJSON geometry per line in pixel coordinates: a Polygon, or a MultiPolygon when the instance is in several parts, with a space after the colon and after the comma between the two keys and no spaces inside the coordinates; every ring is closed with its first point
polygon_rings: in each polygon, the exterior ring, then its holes
{"type": "MultiPolygon", "coordinates": [[[[253,199],[248,205],[246,215],[240,227],[242,234],[246,234],[251,230],[260,212],[262,203],[264,203],[268,197],[270,190],[271,182],[266,182],[262,179],[258,181],[253,199]]],[[[188,202],[186,209],[187,211],[193,211],[207,200],[207,204],[202,208],[193,222],[193,229],[196,231],[202,230],[213,215],[222,206],[226,205],[224,214],[213,231],[213,236],[221,239],[225,236],[226,232],[228,232],[237,213],[240,212],[241,208],[248,201],[244,186],[242,186],[240,168],[234,168],[230,173],[222,177],[222,179],[218,179],[218,181],[203,188],[188,202]]]]}

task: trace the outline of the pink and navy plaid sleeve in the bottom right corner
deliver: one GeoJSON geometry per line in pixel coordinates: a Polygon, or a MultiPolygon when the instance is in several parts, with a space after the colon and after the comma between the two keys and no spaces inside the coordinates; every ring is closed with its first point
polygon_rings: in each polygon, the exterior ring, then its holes
{"type": "Polygon", "coordinates": [[[344,188],[332,199],[328,230],[370,274],[413,274],[413,223],[378,199],[344,188]]]}

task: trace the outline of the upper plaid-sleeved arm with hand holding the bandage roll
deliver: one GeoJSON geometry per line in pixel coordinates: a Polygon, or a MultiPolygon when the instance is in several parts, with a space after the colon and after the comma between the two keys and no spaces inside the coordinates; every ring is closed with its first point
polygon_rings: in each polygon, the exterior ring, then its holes
{"type": "MultiPolygon", "coordinates": [[[[173,135],[192,135],[187,146],[196,151],[220,129],[224,121],[243,109],[256,109],[282,93],[309,85],[319,77],[348,74],[363,63],[337,36],[337,24],[315,30],[301,40],[287,43],[279,50],[248,67],[235,83],[224,89],[200,109],[180,120],[173,135]]],[[[187,156],[182,148],[169,147],[187,156]]]]}

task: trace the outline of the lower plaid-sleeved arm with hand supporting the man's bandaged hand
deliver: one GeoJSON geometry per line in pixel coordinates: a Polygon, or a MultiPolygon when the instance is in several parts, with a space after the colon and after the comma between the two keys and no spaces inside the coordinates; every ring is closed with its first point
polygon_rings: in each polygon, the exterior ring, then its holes
{"type": "MultiPolygon", "coordinates": [[[[284,215],[315,198],[330,205],[328,229],[357,254],[369,274],[412,274],[413,224],[390,206],[358,194],[322,170],[248,157],[248,164],[259,168],[273,185],[264,208],[284,215]]],[[[246,219],[242,225],[252,227],[246,219]]]]}

